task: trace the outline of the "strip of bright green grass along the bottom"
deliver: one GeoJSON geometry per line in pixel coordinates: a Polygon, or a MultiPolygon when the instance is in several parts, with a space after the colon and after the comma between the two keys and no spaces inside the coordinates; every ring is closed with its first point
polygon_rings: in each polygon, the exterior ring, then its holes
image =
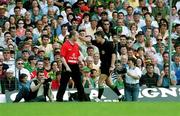
{"type": "Polygon", "coordinates": [[[179,102],[0,104],[0,116],[180,116],[179,102]]]}

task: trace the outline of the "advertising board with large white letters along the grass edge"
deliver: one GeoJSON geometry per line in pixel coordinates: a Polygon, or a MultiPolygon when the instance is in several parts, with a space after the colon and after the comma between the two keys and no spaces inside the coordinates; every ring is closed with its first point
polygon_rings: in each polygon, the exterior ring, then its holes
{"type": "MultiPolygon", "coordinates": [[[[18,91],[6,92],[6,95],[0,95],[0,103],[12,102],[18,91]],[[4,97],[5,96],[5,97],[4,97]]],[[[76,89],[67,89],[64,94],[64,100],[68,101],[72,93],[77,92],[76,89]]],[[[85,89],[85,92],[89,95],[91,101],[98,96],[98,89],[85,89]]],[[[120,92],[124,94],[124,89],[120,92]]],[[[53,91],[54,100],[56,98],[57,91],[53,91]]],[[[180,101],[180,86],[170,88],[141,88],[138,97],[139,101],[180,101]]],[[[22,100],[23,101],[23,100],[22,100]]],[[[104,102],[117,102],[117,95],[110,89],[105,88],[102,101],[104,102]]]]}

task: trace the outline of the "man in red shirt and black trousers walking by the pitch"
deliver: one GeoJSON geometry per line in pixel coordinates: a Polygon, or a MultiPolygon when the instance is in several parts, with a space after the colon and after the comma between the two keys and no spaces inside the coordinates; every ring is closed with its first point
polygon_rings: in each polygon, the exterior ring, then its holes
{"type": "Polygon", "coordinates": [[[60,88],[56,96],[56,100],[60,102],[63,101],[63,95],[70,77],[72,77],[75,82],[75,86],[77,87],[79,101],[84,101],[85,93],[81,82],[81,75],[78,64],[83,64],[83,61],[80,57],[79,46],[76,43],[78,36],[79,34],[76,31],[71,31],[69,39],[66,40],[61,47],[60,55],[63,63],[63,70],[60,80],[60,88]]]}

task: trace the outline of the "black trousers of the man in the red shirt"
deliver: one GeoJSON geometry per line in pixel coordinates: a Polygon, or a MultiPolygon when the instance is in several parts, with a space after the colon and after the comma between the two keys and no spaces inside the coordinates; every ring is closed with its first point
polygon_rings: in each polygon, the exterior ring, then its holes
{"type": "MultiPolygon", "coordinates": [[[[85,92],[84,92],[84,88],[82,86],[79,65],[78,64],[68,64],[68,65],[72,72],[68,72],[68,71],[62,72],[61,80],[60,80],[60,87],[57,92],[56,100],[63,101],[63,96],[64,96],[64,93],[65,93],[65,90],[67,87],[67,83],[69,81],[69,78],[72,77],[72,79],[75,83],[75,86],[77,88],[77,91],[78,91],[78,99],[79,99],[79,101],[84,101],[85,92]]],[[[64,70],[64,68],[65,67],[63,67],[63,70],[64,70]]]]}

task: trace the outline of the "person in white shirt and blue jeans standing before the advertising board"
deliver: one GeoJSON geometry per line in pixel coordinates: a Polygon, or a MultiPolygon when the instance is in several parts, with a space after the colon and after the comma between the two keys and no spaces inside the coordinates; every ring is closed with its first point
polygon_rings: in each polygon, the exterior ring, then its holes
{"type": "Polygon", "coordinates": [[[142,71],[135,66],[136,59],[128,58],[127,74],[125,75],[125,99],[126,101],[137,101],[139,96],[139,80],[142,71]]]}

